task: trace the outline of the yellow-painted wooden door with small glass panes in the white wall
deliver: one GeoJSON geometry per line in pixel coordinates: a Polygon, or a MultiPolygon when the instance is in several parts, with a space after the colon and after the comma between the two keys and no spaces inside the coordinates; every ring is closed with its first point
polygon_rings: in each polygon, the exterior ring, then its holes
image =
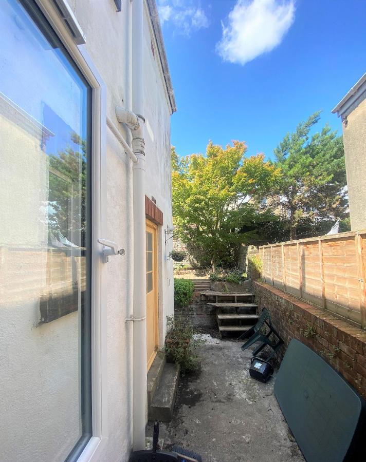
{"type": "Polygon", "coordinates": [[[157,226],[146,221],[146,332],[148,370],[156,356],[158,336],[157,226]]]}

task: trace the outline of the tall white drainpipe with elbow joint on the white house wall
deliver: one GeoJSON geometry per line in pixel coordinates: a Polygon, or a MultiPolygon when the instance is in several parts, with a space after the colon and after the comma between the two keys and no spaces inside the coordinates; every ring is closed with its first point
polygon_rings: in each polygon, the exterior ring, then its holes
{"type": "Polygon", "coordinates": [[[146,276],[145,276],[145,141],[143,137],[143,0],[132,3],[132,101],[133,112],[116,107],[116,115],[131,129],[133,162],[133,450],[145,449],[147,410],[146,276]]]}

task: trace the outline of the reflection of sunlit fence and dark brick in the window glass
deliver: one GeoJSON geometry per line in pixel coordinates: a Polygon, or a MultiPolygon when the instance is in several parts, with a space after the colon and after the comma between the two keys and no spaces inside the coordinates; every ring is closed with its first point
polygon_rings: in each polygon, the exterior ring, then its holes
{"type": "Polygon", "coordinates": [[[79,309],[86,291],[83,248],[0,247],[0,299],[6,305],[40,301],[40,323],[79,309]]]}

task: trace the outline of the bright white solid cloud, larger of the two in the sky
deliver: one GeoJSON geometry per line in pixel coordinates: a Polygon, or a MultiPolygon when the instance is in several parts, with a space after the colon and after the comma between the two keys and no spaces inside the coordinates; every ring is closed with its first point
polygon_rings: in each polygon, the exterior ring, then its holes
{"type": "Polygon", "coordinates": [[[238,0],[216,52],[224,61],[244,65],[277,47],[294,18],[294,0],[238,0]]]}

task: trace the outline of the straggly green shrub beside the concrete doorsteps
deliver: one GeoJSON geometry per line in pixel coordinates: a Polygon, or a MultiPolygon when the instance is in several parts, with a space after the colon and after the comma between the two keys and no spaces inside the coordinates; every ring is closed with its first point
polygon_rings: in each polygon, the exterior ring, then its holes
{"type": "Polygon", "coordinates": [[[192,324],[182,317],[167,316],[165,353],[167,360],[180,365],[181,372],[194,372],[200,368],[197,347],[203,340],[196,340],[192,324]]]}

